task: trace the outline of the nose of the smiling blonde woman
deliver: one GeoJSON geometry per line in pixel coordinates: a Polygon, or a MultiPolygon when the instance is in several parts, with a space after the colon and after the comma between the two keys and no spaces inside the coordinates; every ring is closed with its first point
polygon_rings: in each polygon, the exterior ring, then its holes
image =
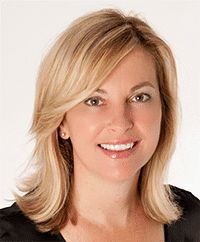
{"type": "Polygon", "coordinates": [[[123,134],[134,126],[133,114],[127,107],[113,108],[109,116],[109,131],[123,134]]]}

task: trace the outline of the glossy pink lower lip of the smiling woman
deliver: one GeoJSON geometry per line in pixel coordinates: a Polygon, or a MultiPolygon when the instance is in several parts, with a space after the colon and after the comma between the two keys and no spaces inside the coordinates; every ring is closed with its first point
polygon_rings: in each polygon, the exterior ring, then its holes
{"type": "Polygon", "coordinates": [[[123,159],[131,156],[135,152],[135,149],[137,148],[137,146],[138,146],[138,142],[136,142],[136,144],[133,146],[132,149],[123,150],[123,151],[105,150],[99,146],[98,147],[101,151],[103,151],[105,155],[109,156],[112,159],[123,159]]]}

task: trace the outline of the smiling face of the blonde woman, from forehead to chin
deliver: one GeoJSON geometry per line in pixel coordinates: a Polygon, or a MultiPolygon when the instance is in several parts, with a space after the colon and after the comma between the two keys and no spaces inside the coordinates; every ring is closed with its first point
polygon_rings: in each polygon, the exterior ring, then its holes
{"type": "Polygon", "coordinates": [[[73,145],[74,172],[112,181],[134,177],[159,140],[161,102],[153,58],[135,49],[61,125],[73,145]]]}

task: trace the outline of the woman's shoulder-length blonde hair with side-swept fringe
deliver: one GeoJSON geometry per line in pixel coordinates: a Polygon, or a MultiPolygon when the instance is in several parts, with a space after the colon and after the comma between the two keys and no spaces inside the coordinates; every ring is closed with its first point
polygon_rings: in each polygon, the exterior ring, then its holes
{"type": "Polygon", "coordinates": [[[102,9],[75,20],[41,63],[31,133],[35,172],[23,181],[16,202],[42,232],[58,232],[69,220],[73,187],[73,147],[59,138],[65,113],[94,92],[116,65],[136,47],[156,63],[162,104],[158,146],[142,167],[138,190],[146,214],[161,223],[181,215],[164,178],[175,145],[176,67],[168,45],[137,16],[102,9]]]}

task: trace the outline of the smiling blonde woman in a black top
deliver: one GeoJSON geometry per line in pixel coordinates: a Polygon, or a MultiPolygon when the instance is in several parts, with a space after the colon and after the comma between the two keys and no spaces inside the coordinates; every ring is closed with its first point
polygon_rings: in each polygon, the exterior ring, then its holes
{"type": "Polygon", "coordinates": [[[0,212],[0,241],[200,241],[200,201],[164,184],[176,68],[151,27],[119,10],[74,21],[41,64],[35,172],[0,212]]]}

